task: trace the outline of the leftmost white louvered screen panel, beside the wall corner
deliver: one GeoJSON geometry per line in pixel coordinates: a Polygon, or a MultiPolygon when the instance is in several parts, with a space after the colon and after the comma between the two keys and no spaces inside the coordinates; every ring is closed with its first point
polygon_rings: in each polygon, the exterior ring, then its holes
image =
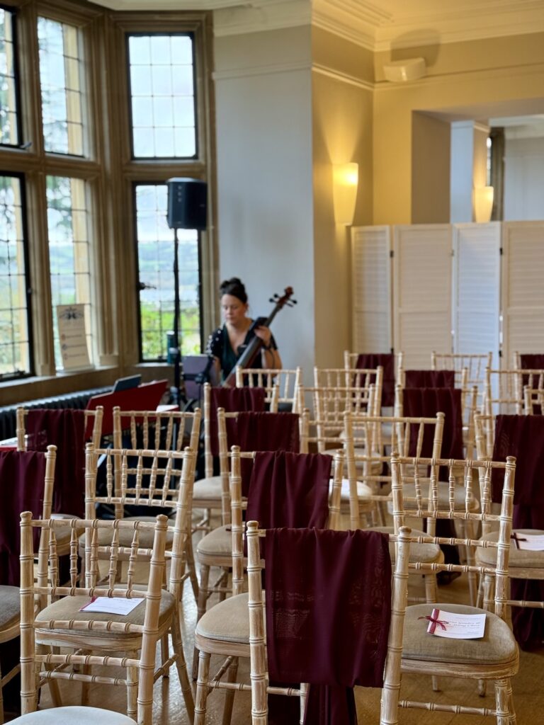
{"type": "Polygon", "coordinates": [[[390,352],[390,227],[354,227],[351,231],[353,350],[390,352]]]}

